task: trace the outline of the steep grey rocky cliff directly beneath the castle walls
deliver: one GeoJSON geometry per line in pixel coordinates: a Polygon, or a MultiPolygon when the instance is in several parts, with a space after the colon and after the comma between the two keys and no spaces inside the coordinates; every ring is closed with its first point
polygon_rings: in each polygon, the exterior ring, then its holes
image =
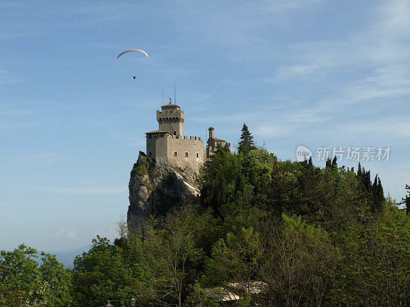
{"type": "Polygon", "coordinates": [[[140,151],[128,185],[130,230],[144,227],[150,215],[160,217],[176,206],[196,204],[200,192],[194,177],[192,169],[173,167],[161,158],[152,159],[140,151]]]}

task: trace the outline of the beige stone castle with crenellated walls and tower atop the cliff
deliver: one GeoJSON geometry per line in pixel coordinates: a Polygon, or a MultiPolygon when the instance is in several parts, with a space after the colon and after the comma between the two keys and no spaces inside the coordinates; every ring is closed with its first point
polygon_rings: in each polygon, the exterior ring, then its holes
{"type": "Polygon", "coordinates": [[[217,146],[231,151],[231,143],[214,137],[214,128],[210,127],[207,148],[203,149],[200,137],[183,135],[183,122],[185,113],[179,105],[161,105],[157,110],[158,130],[146,132],[147,156],[159,157],[168,164],[177,167],[190,167],[198,173],[199,167],[209,159],[217,146]]]}

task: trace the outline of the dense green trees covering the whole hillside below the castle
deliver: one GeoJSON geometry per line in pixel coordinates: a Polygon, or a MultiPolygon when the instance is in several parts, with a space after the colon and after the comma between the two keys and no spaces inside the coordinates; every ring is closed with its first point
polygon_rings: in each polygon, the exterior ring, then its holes
{"type": "Polygon", "coordinates": [[[144,235],[120,224],[72,270],[24,245],[2,251],[0,305],[410,305],[410,217],[378,175],[279,161],[246,125],[239,145],[204,163],[198,206],[151,218],[144,235]]]}

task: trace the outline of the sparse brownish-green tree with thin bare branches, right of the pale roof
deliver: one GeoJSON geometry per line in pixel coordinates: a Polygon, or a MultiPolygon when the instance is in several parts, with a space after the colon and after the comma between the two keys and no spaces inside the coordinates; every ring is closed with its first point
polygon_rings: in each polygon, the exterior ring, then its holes
{"type": "Polygon", "coordinates": [[[320,306],[337,257],[326,231],[285,214],[279,227],[271,225],[264,224],[263,281],[286,306],[320,306]]]}

